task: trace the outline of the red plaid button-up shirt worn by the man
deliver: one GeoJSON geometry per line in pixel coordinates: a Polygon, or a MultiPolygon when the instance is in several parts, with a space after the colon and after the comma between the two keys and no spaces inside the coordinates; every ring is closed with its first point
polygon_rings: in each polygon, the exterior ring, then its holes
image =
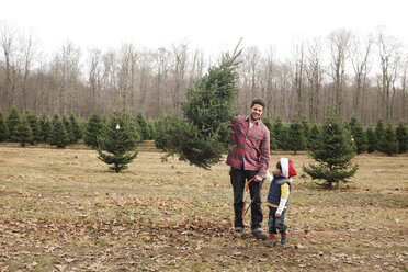
{"type": "Polygon", "coordinates": [[[258,121],[249,128],[249,117],[238,115],[233,121],[231,149],[227,165],[236,169],[258,171],[263,178],[267,174],[270,157],[270,132],[258,121]]]}

